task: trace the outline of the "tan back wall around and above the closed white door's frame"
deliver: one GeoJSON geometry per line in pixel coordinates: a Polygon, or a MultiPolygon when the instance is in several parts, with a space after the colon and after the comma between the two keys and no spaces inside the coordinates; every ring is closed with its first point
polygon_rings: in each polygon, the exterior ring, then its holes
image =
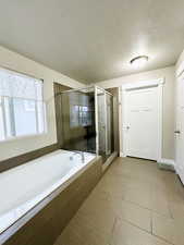
{"type": "MultiPolygon", "coordinates": [[[[169,66],[97,83],[98,86],[103,88],[112,88],[119,87],[125,83],[136,83],[139,81],[149,81],[164,77],[165,84],[163,87],[162,158],[167,159],[174,159],[174,74],[175,66],[169,66]]],[[[122,149],[120,150],[122,151],[122,149]]]]}

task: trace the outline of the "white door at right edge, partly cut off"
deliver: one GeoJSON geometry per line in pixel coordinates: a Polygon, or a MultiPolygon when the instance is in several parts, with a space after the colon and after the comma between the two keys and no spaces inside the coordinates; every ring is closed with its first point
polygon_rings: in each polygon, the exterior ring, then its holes
{"type": "Polygon", "coordinates": [[[184,77],[176,81],[175,162],[184,183],[184,77]]]}

